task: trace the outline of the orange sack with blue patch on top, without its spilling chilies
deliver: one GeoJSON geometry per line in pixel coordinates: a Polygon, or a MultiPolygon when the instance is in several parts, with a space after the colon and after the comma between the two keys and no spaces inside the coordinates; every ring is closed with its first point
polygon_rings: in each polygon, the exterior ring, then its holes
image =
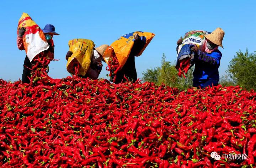
{"type": "Polygon", "coordinates": [[[130,54],[130,51],[132,50],[132,47],[134,45],[134,35],[137,34],[140,36],[141,40],[145,42],[145,45],[142,50],[140,50],[139,54],[137,56],[142,55],[142,52],[145,50],[146,46],[150,43],[150,41],[153,39],[155,36],[154,33],[149,33],[149,32],[132,32],[129,34],[125,34],[116,41],[114,41],[105,51],[103,54],[103,58],[108,64],[108,59],[113,58],[113,54],[116,55],[116,58],[119,62],[119,66],[121,69],[124,64],[127,61],[127,58],[130,54]],[[114,52],[114,53],[113,53],[114,52]]]}

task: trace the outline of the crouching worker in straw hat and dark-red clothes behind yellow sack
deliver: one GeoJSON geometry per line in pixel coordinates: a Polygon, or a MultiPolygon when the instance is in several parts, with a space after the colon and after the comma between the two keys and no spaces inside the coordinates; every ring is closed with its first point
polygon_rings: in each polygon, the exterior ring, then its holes
{"type": "MultiPolygon", "coordinates": [[[[98,79],[98,76],[102,70],[102,55],[104,54],[105,50],[107,49],[108,45],[103,44],[97,48],[93,49],[91,64],[89,69],[87,70],[84,78],[91,78],[91,79],[98,79]]],[[[66,54],[66,60],[73,54],[72,51],[68,51],[66,54]]]]}

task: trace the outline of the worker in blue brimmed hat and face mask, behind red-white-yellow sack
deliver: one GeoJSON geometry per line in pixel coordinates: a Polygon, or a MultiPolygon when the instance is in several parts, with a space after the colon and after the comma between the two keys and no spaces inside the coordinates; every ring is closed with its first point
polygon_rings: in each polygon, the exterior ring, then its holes
{"type": "MultiPolygon", "coordinates": [[[[24,50],[22,36],[24,35],[25,32],[26,32],[25,27],[21,27],[18,30],[17,46],[19,50],[24,50]]],[[[46,24],[46,26],[43,29],[43,33],[46,37],[47,43],[49,44],[49,48],[46,51],[43,51],[43,53],[41,54],[47,53],[47,55],[53,59],[54,58],[53,35],[59,35],[59,34],[55,32],[55,27],[52,24],[46,24]]],[[[30,80],[28,77],[31,76],[31,68],[32,68],[32,63],[26,56],[23,64],[23,73],[22,73],[22,79],[21,79],[23,83],[30,83],[30,80]]]]}

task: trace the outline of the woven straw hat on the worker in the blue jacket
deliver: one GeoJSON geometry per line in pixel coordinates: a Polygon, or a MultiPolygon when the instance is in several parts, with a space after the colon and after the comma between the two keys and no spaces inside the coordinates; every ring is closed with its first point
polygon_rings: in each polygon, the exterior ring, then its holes
{"type": "Polygon", "coordinates": [[[225,35],[225,32],[222,30],[222,28],[218,27],[212,33],[206,35],[205,37],[208,40],[212,41],[214,44],[221,46],[223,48],[222,40],[224,35],[225,35]]]}

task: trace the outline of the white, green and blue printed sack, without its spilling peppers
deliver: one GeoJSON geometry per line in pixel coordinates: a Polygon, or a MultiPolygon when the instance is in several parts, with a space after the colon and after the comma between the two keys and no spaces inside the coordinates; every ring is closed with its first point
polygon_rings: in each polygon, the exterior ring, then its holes
{"type": "Polygon", "coordinates": [[[197,46],[199,50],[204,51],[204,44],[206,43],[205,35],[209,34],[203,30],[192,30],[187,32],[182,39],[182,44],[178,48],[177,54],[177,62],[176,62],[176,69],[180,68],[180,62],[183,59],[190,59],[190,68],[193,66],[193,56],[194,54],[191,53],[191,47],[197,46]]]}

